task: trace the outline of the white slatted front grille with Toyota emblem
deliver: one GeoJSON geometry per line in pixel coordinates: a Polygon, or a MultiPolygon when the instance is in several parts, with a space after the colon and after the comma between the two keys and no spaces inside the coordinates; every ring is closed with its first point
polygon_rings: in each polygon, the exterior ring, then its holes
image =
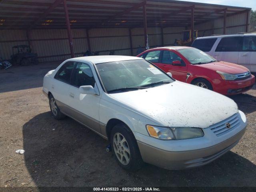
{"type": "Polygon", "coordinates": [[[223,134],[226,134],[227,132],[230,132],[239,125],[240,120],[238,118],[238,114],[234,114],[221,122],[211,125],[209,128],[216,134],[216,136],[221,136],[223,134]],[[226,126],[227,123],[230,124],[230,128],[226,126]]]}

